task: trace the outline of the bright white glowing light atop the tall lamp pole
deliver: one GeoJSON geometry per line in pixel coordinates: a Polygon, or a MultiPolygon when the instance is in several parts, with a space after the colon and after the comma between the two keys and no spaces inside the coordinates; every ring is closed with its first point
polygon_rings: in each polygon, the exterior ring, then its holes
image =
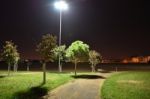
{"type": "Polygon", "coordinates": [[[67,10],[68,9],[68,4],[62,0],[55,2],[54,6],[56,9],[59,9],[59,10],[67,10]]]}

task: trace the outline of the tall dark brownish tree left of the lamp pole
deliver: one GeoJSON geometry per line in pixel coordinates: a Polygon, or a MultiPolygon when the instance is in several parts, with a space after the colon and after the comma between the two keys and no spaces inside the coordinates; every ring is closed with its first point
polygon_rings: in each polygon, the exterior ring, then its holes
{"type": "Polygon", "coordinates": [[[37,45],[37,52],[42,58],[42,67],[43,67],[43,84],[46,83],[46,63],[53,61],[52,49],[56,47],[57,38],[56,36],[46,34],[43,35],[41,42],[37,45]]]}

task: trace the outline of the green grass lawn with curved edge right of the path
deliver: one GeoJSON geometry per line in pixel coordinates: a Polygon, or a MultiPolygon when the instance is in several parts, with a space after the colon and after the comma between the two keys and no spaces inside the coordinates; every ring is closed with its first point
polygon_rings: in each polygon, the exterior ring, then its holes
{"type": "Polygon", "coordinates": [[[150,99],[150,72],[122,72],[110,76],[101,89],[102,99],[150,99]]]}

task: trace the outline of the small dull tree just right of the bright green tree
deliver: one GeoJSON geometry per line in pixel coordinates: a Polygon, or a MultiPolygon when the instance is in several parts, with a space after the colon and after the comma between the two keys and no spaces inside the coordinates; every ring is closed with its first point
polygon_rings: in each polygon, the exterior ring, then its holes
{"type": "Polygon", "coordinates": [[[101,61],[102,56],[98,52],[94,50],[91,50],[89,52],[89,62],[91,64],[92,72],[95,72],[96,65],[99,64],[101,61]]]}

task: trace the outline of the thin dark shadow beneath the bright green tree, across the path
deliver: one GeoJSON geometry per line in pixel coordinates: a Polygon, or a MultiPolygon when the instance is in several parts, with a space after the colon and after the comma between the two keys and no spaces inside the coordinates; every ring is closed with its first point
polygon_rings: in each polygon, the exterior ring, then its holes
{"type": "Polygon", "coordinates": [[[75,79],[83,78],[83,79],[105,79],[103,76],[99,75],[77,75],[77,76],[72,76],[75,79]]]}

